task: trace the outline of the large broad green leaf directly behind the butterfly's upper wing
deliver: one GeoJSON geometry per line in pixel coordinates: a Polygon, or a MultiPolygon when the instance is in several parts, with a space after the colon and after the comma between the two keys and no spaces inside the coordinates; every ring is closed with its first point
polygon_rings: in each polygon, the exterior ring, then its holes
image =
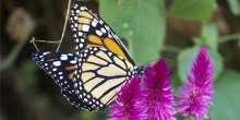
{"type": "Polygon", "coordinates": [[[136,63],[157,60],[165,37],[163,0],[100,0],[100,15],[127,39],[136,63]]]}

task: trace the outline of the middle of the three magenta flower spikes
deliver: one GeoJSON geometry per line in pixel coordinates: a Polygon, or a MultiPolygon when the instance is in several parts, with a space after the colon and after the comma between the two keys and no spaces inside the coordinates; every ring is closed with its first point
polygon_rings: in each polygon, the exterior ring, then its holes
{"type": "Polygon", "coordinates": [[[146,69],[143,96],[144,120],[176,120],[170,72],[164,59],[146,69]]]}

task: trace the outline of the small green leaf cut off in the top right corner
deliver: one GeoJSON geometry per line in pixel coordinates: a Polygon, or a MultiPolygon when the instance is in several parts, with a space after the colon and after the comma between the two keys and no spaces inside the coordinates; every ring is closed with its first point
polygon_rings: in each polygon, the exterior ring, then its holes
{"type": "Polygon", "coordinates": [[[228,0],[230,10],[235,15],[240,14],[240,0],[228,0]]]}

